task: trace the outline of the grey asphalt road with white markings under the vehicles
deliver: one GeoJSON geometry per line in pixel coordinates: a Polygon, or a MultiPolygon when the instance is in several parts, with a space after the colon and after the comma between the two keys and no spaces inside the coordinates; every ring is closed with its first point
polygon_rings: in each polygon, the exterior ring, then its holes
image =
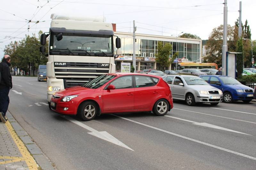
{"type": "Polygon", "coordinates": [[[14,76],[9,111],[60,170],[256,169],[256,103],[176,101],[164,117],[108,114],[83,122],[49,110],[46,88],[14,76]]]}

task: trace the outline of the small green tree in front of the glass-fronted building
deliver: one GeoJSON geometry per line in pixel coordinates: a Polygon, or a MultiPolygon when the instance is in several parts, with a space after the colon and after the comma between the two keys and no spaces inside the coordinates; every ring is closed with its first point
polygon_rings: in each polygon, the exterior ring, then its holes
{"type": "Polygon", "coordinates": [[[172,45],[171,44],[165,44],[163,46],[163,42],[158,42],[157,44],[157,50],[156,53],[156,62],[159,63],[164,69],[168,68],[171,64],[171,60],[169,56],[172,53],[172,45]]]}

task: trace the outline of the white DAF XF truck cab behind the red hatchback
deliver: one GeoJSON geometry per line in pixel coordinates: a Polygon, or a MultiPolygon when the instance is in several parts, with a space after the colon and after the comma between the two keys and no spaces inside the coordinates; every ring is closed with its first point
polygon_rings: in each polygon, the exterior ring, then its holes
{"type": "Polygon", "coordinates": [[[102,74],[115,73],[115,58],[122,54],[118,49],[121,39],[114,36],[112,24],[104,22],[104,18],[52,14],[51,19],[49,32],[41,35],[40,47],[40,52],[48,56],[48,103],[61,89],[83,85],[102,74]]]}

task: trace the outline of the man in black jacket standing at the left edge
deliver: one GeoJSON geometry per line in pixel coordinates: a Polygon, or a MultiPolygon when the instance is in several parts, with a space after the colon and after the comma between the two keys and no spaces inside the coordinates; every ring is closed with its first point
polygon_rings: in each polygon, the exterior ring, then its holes
{"type": "Polygon", "coordinates": [[[0,63],[1,82],[0,82],[0,119],[6,123],[7,118],[5,114],[9,106],[9,91],[12,89],[12,75],[9,67],[11,66],[10,55],[4,55],[2,62],[0,63]]]}

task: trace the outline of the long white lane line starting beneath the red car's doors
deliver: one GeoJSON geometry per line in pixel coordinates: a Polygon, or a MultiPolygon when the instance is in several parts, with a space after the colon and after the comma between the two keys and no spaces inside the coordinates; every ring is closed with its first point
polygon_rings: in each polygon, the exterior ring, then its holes
{"type": "MultiPolygon", "coordinates": [[[[113,115],[113,114],[112,114],[112,115],[113,115]]],[[[165,130],[163,130],[163,129],[160,129],[160,128],[157,128],[157,127],[154,127],[154,126],[150,126],[150,125],[148,125],[148,124],[143,124],[143,123],[140,123],[140,122],[137,122],[137,121],[134,121],[134,120],[131,120],[131,119],[127,119],[127,118],[124,118],[124,117],[120,117],[120,116],[117,116],[117,115],[113,115],[113,116],[116,116],[116,117],[119,117],[119,118],[121,118],[121,119],[130,121],[130,122],[133,122],[133,123],[136,123],[136,124],[140,124],[140,125],[143,125],[143,126],[152,128],[152,129],[155,129],[155,130],[157,130],[157,131],[162,131],[162,132],[164,132],[164,133],[168,133],[168,134],[171,134],[171,135],[174,135],[174,136],[183,138],[183,139],[187,139],[187,140],[190,140],[190,141],[199,143],[199,144],[203,144],[203,145],[210,146],[210,147],[213,147],[213,148],[222,150],[222,151],[226,151],[226,152],[233,153],[233,154],[236,154],[236,155],[239,155],[239,156],[243,156],[243,157],[245,157],[245,158],[249,158],[249,159],[252,159],[252,160],[256,160],[255,157],[252,157],[252,156],[249,156],[249,155],[245,155],[245,154],[243,154],[243,153],[239,153],[239,152],[236,152],[236,151],[232,151],[232,150],[229,150],[229,149],[225,149],[225,148],[222,148],[222,147],[220,147],[220,146],[212,145],[212,144],[209,144],[209,143],[206,143],[206,142],[202,142],[202,141],[200,141],[200,140],[196,140],[196,139],[193,139],[193,138],[188,138],[188,137],[186,137],[186,136],[182,136],[182,135],[179,135],[179,134],[170,132],[170,131],[165,131],[165,130]]]]}

